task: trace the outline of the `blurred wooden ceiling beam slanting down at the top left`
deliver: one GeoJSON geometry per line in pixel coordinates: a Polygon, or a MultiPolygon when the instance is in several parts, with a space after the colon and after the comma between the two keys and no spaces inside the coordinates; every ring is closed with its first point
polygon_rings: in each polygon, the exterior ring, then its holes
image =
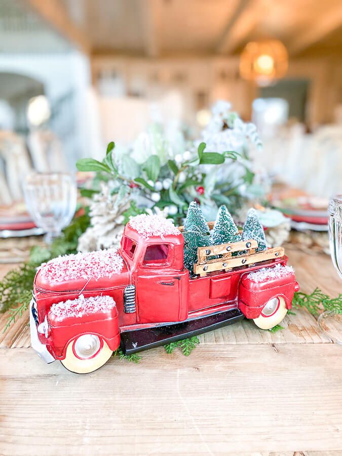
{"type": "Polygon", "coordinates": [[[67,41],[89,54],[91,46],[85,34],[70,19],[67,11],[59,0],[20,0],[25,8],[37,13],[48,22],[67,41]]]}

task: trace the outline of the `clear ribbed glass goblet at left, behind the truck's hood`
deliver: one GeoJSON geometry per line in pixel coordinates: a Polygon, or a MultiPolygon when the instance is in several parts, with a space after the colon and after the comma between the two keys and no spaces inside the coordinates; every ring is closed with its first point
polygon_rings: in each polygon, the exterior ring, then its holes
{"type": "Polygon", "coordinates": [[[44,239],[51,244],[75,212],[77,187],[74,179],[64,173],[34,172],[24,179],[23,191],[34,223],[46,232],[44,239]]]}

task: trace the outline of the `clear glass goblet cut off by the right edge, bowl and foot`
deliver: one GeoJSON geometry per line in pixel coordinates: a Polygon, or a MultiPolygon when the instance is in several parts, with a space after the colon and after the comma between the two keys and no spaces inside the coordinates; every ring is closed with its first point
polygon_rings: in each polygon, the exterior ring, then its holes
{"type": "MultiPolygon", "coordinates": [[[[333,265],[342,279],[342,195],[329,201],[329,244],[333,265]]],[[[342,314],[325,311],[318,318],[318,326],[330,339],[342,344],[342,314]]]]}

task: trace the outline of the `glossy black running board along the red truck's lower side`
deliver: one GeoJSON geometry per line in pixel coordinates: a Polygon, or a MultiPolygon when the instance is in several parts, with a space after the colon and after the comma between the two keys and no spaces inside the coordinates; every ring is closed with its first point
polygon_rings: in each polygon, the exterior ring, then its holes
{"type": "Polygon", "coordinates": [[[214,315],[198,317],[171,325],[135,329],[121,333],[121,350],[125,355],[141,352],[154,347],[186,339],[204,332],[231,325],[244,318],[239,309],[232,309],[214,315]]]}

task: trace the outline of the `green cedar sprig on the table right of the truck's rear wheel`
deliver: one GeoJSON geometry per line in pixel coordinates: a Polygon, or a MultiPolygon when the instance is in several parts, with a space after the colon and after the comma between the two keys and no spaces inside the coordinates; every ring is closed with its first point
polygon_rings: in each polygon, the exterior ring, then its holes
{"type": "Polygon", "coordinates": [[[292,305],[295,308],[306,308],[313,315],[320,314],[322,310],[342,314],[342,293],[331,298],[319,288],[311,294],[297,291],[294,293],[292,305]]]}

